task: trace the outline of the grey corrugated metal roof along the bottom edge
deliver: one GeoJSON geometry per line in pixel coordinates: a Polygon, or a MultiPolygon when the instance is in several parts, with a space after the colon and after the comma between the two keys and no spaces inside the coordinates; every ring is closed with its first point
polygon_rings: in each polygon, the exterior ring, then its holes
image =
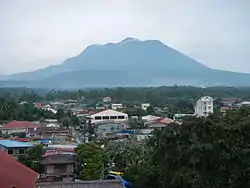
{"type": "Polygon", "coordinates": [[[118,180],[38,183],[36,188],[123,188],[118,180]]]}

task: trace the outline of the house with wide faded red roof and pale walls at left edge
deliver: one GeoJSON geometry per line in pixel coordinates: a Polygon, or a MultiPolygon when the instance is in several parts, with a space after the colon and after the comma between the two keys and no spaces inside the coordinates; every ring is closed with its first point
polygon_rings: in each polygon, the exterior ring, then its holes
{"type": "Polygon", "coordinates": [[[8,134],[13,133],[29,133],[41,127],[40,124],[31,123],[28,121],[12,121],[10,123],[4,124],[2,131],[8,134]]]}

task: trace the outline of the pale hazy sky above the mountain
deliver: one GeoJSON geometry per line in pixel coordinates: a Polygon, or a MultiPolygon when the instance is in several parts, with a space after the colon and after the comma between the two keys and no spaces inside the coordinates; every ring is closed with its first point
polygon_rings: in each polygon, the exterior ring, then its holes
{"type": "Polygon", "coordinates": [[[0,0],[0,73],[58,64],[127,36],[250,72],[250,0],[0,0]]]}

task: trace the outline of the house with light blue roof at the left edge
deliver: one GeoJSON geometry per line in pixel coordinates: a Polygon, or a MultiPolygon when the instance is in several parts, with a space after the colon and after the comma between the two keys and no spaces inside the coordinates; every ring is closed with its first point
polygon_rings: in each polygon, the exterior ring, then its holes
{"type": "Polygon", "coordinates": [[[29,142],[18,142],[15,140],[0,140],[0,150],[6,151],[8,154],[17,157],[24,155],[25,150],[32,147],[33,144],[29,142]]]}

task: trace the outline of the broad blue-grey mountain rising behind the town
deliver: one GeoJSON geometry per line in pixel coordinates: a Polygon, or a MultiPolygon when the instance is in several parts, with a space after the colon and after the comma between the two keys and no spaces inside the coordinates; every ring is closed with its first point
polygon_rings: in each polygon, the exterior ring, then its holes
{"type": "Polygon", "coordinates": [[[112,86],[248,86],[250,74],[214,70],[160,41],[126,38],[88,46],[60,65],[8,75],[0,85],[42,88],[112,86]]]}

